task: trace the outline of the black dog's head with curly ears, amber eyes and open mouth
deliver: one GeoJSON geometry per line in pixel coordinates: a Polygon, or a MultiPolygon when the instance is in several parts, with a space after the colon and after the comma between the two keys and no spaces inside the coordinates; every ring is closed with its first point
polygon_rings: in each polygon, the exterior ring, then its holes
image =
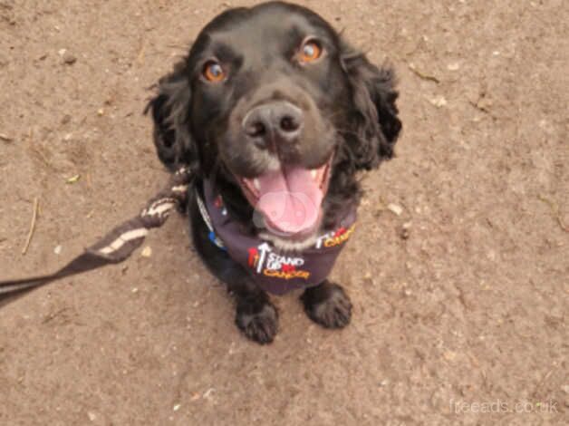
{"type": "Polygon", "coordinates": [[[231,9],[159,83],[159,157],[225,189],[237,217],[255,210],[270,234],[304,240],[357,201],[357,170],[391,158],[393,84],[304,7],[231,9]]]}

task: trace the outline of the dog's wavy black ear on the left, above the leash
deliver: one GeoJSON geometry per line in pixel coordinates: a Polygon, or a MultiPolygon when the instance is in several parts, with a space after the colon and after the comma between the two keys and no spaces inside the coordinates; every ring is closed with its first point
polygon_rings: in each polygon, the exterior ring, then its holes
{"type": "Polygon", "coordinates": [[[188,165],[198,171],[198,145],[189,129],[191,90],[186,60],[177,63],[157,87],[158,93],[144,112],[150,111],[154,121],[154,145],[159,159],[170,170],[188,165]]]}

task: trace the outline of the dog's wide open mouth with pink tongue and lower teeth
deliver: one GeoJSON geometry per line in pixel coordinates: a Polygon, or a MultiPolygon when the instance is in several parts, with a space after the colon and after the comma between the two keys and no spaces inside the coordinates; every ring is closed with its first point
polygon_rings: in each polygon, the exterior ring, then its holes
{"type": "Polygon", "coordinates": [[[316,169],[282,166],[253,179],[238,179],[265,227],[280,237],[308,237],[319,227],[332,157],[316,169]]]}

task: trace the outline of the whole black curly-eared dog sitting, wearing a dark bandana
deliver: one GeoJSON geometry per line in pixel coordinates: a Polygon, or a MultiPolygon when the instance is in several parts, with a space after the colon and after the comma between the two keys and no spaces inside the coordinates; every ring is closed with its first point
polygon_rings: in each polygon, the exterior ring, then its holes
{"type": "Polygon", "coordinates": [[[159,159],[197,177],[194,244],[235,295],[237,326],[272,342],[266,291],[294,288],[313,321],[348,324],[350,299],[326,276],[352,234],[356,173],[393,155],[391,69],[312,11],[271,2],[218,15],[158,89],[149,109],[159,159]]]}

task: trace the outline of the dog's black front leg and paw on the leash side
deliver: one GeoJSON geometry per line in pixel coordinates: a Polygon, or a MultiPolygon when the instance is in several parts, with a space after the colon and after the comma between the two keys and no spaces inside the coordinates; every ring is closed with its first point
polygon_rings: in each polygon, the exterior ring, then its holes
{"type": "Polygon", "coordinates": [[[236,300],[236,325],[259,344],[270,344],[278,328],[278,313],[269,296],[252,281],[243,268],[209,240],[209,229],[195,198],[190,197],[190,221],[194,246],[204,263],[236,300]]]}

